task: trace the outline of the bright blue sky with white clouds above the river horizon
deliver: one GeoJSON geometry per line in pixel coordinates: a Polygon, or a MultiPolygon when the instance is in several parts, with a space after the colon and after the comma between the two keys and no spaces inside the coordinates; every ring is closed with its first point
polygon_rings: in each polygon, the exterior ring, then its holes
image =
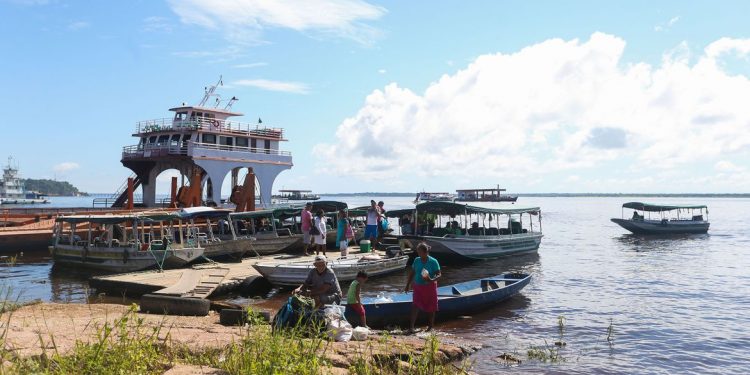
{"type": "Polygon", "coordinates": [[[747,1],[0,0],[0,14],[0,164],[27,178],[114,192],[136,122],[222,76],[242,121],[284,128],[294,167],[274,191],[750,192],[747,1]]]}

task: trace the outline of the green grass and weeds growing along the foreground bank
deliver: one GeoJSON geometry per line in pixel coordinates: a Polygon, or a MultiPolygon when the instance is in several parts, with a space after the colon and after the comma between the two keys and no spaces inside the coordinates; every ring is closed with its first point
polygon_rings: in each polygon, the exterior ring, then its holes
{"type": "MultiPolygon", "coordinates": [[[[114,322],[97,327],[96,338],[78,341],[67,353],[57,349],[54,338],[50,347],[38,356],[21,358],[5,347],[5,330],[0,336],[0,359],[4,362],[0,374],[162,374],[178,363],[205,365],[229,374],[325,374],[332,363],[325,354],[332,351],[331,343],[320,335],[310,336],[307,328],[271,330],[252,318],[242,330],[241,339],[219,349],[196,349],[174,344],[169,327],[162,322],[157,327],[144,324],[136,312],[137,306],[114,322]]],[[[10,314],[9,314],[10,315],[10,314]]],[[[251,316],[255,316],[254,314],[251,316]]],[[[8,317],[10,319],[10,317],[8,317]]],[[[4,325],[7,330],[7,324],[4,325]]],[[[42,336],[39,336],[40,340],[42,336]]],[[[349,371],[355,374],[455,374],[462,368],[442,364],[444,354],[435,336],[426,340],[422,352],[401,350],[400,355],[375,348],[400,345],[388,335],[364,344],[366,348],[355,356],[349,371]],[[375,355],[373,355],[375,354],[375,355]]]]}

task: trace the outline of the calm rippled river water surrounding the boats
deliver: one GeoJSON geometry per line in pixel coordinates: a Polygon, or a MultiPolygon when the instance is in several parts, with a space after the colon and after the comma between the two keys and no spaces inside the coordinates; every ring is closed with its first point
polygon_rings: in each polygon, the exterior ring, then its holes
{"type": "MultiPolygon", "coordinates": [[[[369,202],[335,199],[350,205],[369,202]]],[[[406,207],[410,199],[383,198],[391,209],[406,207]]],[[[609,221],[620,216],[623,201],[521,197],[518,206],[542,207],[545,237],[539,254],[443,264],[441,282],[523,271],[533,275],[531,284],[497,308],[440,324],[441,334],[481,342],[484,349],[471,359],[483,374],[750,372],[750,199],[660,198],[705,203],[710,209],[709,235],[670,238],[625,234],[609,221]],[[545,342],[554,347],[560,340],[559,317],[567,344],[559,351],[561,361],[528,359],[529,347],[545,342]],[[523,362],[500,363],[496,358],[503,353],[523,362]]],[[[63,198],[55,204],[88,206],[90,199],[63,198]]],[[[83,302],[85,277],[53,269],[43,253],[27,253],[15,267],[0,267],[2,282],[24,300],[83,302]]],[[[373,279],[365,290],[396,291],[403,282],[403,275],[373,279]]]]}

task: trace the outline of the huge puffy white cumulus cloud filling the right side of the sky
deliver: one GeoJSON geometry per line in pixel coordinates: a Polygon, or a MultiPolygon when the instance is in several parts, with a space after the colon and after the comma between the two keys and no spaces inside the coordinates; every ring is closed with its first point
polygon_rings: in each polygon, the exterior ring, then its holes
{"type": "Polygon", "coordinates": [[[531,181],[732,159],[750,150],[750,81],[719,59],[748,46],[721,39],[692,64],[665,54],[652,66],[622,61],[626,42],[594,33],[482,55],[422,93],[398,83],[373,91],[314,153],[321,172],[366,180],[531,181]]]}

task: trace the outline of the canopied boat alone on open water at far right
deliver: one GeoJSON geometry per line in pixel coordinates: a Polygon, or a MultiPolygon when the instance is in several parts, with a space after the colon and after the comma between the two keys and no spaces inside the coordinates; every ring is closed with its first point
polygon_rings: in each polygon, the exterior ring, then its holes
{"type": "Polygon", "coordinates": [[[623,204],[622,208],[622,218],[612,218],[611,220],[635,234],[706,233],[711,225],[707,220],[708,207],[705,205],[628,202],[623,204]],[[625,208],[632,209],[633,216],[626,218],[625,208]],[[705,214],[703,213],[704,210],[705,214]],[[641,211],[641,213],[639,214],[638,211],[641,211]],[[646,217],[647,215],[648,217],[646,217]]]}

